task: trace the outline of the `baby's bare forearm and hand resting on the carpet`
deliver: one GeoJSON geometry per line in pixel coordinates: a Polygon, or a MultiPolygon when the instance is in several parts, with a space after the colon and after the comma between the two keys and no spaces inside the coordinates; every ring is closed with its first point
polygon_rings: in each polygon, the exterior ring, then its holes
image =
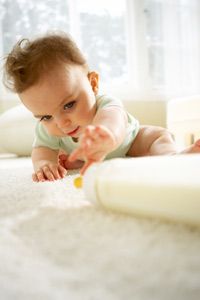
{"type": "Polygon", "coordinates": [[[67,171],[58,162],[58,151],[47,147],[37,147],[32,151],[33,181],[54,181],[65,177],[67,171]]]}

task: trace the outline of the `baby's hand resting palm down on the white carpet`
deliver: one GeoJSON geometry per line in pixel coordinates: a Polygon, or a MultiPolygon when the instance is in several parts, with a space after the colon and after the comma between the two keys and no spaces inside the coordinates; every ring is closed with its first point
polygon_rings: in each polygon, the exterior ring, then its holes
{"type": "Polygon", "coordinates": [[[39,161],[35,166],[35,173],[32,175],[33,181],[54,181],[66,176],[66,169],[59,163],[52,161],[39,161]]]}

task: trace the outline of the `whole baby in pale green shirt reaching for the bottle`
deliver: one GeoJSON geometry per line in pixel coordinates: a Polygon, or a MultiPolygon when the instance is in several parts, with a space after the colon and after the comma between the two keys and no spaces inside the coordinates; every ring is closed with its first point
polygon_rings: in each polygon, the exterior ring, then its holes
{"type": "MultiPolygon", "coordinates": [[[[140,126],[118,99],[98,94],[98,82],[65,33],[21,40],[6,57],[6,86],[38,119],[34,181],[54,181],[74,168],[84,174],[114,157],[178,154],[171,133],[140,126]]],[[[200,140],[181,153],[200,153],[200,140]]]]}

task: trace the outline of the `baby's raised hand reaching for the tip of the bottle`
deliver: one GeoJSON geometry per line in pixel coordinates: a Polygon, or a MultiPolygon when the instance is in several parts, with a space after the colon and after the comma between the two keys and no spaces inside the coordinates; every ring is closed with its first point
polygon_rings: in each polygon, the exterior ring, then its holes
{"type": "Polygon", "coordinates": [[[93,162],[102,161],[115,147],[115,137],[109,129],[90,125],[83,132],[79,147],[70,154],[69,161],[86,161],[80,171],[83,174],[93,162]]]}

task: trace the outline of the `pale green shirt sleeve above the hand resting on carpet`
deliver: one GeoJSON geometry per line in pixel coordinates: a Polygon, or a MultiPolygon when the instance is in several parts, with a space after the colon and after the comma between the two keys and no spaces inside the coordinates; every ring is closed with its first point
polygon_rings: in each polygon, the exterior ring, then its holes
{"type": "Polygon", "coordinates": [[[60,148],[59,141],[60,138],[50,135],[41,122],[37,123],[33,148],[48,147],[50,149],[57,150],[60,148]]]}

